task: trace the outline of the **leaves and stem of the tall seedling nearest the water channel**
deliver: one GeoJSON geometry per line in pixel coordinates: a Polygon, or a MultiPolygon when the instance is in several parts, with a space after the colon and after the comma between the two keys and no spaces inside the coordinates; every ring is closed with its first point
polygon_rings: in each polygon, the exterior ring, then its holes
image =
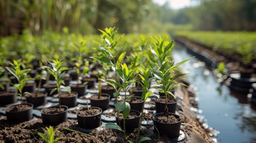
{"type": "Polygon", "coordinates": [[[174,64],[174,61],[171,61],[171,58],[168,56],[172,48],[172,43],[172,41],[165,43],[165,38],[155,38],[153,39],[153,45],[150,46],[152,55],[146,54],[147,58],[149,58],[149,60],[155,64],[154,66],[150,67],[154,75],[154,80],[156,83],[158,83],[155,87],[165,94],[164,113],[166,115],[168,115],[167,101],[169,99],[169,95],[172,95],[175,98],[171,92],[171,89],[180,84],[176,82],[176,79],[184,75],[183,73],[175,74],[174,71],[178,66],[190,60],[189,58],[181,61],[178,64],[174,64]]]}

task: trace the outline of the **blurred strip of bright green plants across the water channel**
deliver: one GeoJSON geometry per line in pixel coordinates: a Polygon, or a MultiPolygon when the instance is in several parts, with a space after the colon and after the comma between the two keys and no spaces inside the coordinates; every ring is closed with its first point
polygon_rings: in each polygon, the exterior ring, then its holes
{"type": "Polygon", "coordinates": [[[227,57],[240,55],[244,64],[256,59],[255,32],[183,31],[176,32],[175,35],[206,45],[227,57]]]}

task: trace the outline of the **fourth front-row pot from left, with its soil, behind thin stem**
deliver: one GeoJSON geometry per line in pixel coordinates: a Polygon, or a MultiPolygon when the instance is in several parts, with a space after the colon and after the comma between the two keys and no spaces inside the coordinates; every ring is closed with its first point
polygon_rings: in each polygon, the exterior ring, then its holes
{"type": "MultiPolygon", "coordinates": [[[[119,121],[118,121],[118,113],[115,114],[116,123],[120,123],[121,128],[124,130],[124,117],[122,111],[119,112],[119,121]]],[[[134,129],[138,128],[140,125],[140,116],[141,113],[139,111],[131,110],[127,119],[125,120],[125,130],[127,132],[132,132],[134,129]]]]}

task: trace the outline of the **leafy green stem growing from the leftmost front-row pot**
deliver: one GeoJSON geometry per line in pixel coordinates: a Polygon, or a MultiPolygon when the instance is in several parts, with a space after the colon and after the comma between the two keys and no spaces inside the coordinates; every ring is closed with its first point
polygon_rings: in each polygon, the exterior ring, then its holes
{"type": "Polygon", "coordinates": [[[33,80],[32,78],[29,78],[27,76],[27,73],[29,73],[29,71],[31,69],[21,70],[20,69],[21,60],[13,60],[13,63],[10,63],[10,64],[11,64],[11,66],[13,66],[13,68],[6,67],[6,69],[8,71],[10,71],[10,73],[13,74],[13,76],[15,76],[16,79],[18,80],[18,83],[13,84],[13,86],[14,86],[15,90],[18,92],[18,95],[20,95],[20,97],[21,97],[21,104],[23,104],[22,98],[23,98],[23,94],[26,94],[26,92],[23,93],[22,90],[28,80],[33,80]]]}

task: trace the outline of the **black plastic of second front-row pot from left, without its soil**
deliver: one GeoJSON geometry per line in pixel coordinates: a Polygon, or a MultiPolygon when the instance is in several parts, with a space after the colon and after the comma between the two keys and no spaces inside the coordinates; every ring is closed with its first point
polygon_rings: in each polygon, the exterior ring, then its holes
{"type": "MultiPolygon", "coordinates": [[[[47,114],[47,113],[44,113],[44,110],[46,110],[47,108],[44,108],[41,110],[42,122],[44,125],[56,126],[67,120],[68,107],[66,105],[60,105],[60,107],[64,108],[64,111],[61,111],[60,113],[47,114]]],[[[49,108],[59,108],[59,106],[54,106],[49,108]]]]}

